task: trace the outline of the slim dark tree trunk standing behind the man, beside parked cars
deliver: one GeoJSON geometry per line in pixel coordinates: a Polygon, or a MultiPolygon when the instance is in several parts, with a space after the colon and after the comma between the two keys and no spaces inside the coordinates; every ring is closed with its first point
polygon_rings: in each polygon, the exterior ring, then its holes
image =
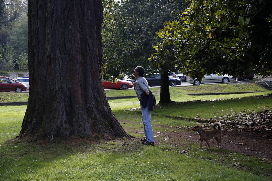
{"type": "Polygon", "coordinates": [[[168,70],[163,71],[160,77],[161,86],[160,86],[160,102],[161,103],[170,103],[170,93],[169,93],[169,79],[168,79],[168,70]]]}

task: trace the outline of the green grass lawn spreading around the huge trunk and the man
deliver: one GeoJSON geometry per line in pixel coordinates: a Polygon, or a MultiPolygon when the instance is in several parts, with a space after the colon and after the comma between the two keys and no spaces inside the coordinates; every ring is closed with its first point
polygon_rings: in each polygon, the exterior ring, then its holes
{"type": "MultiPolygon", "coordinates": [[[[203,89],[208,90],[208,88],[203,89]]],[[[156,92],[159,99],[159,88],[154,90],[152,91],[156,92]]],[[[110,91],[112,90],[106,90],[107,96],[110,91]]],[[[67,142],[56,141],[47,144],[32,143],[26,138],[12,139],[19,135],[27,106],[0,106],[0,180],[268,181],[272,179],[271,160],[262,160],[214,147],[200,151],[197,149],[198,143],[185,138],[175,138],[177,144],[173,144],[163,141],[166,138],[157,133],[164,132],[165,126],[173,131],[187,132],[187,126],[195,125],[194,122],[175,120],[162,115],[195,117],[198,113],[203,118],[214,118],[214,116],[229,114],[229,111],[231,113],[261,111],[264,106],[271,110],[271,98],[247,97],[260,93],[182,97],[176,93],[177,91],[184,91],[183,94],[186,94],[186,91],[198,92],[170,87],[171,100],[179,102],[156,106],[152,112],[154,135],[156,140],[160,141],[160,144],[154,147],[143,146],[138,141],[144,134],[137,98],[109,100],[112,111],[123,128],[134,135],[137,141],[120,138],[93,143],[85,139],[72,139],[67,142]],[[201,99],[214,101],[192,102],[201,99]],[[186,100],[191,102],[184,102],[186,100]]],[[[219,90],[215,92],[217,91],[219,90]]],[[[114,96],[123,93],[135,95],[134,90],[112,92],[115,92],[114,96]]],[[[261,95],[269,93],[271,91],[262,92],[261,95]]]]}

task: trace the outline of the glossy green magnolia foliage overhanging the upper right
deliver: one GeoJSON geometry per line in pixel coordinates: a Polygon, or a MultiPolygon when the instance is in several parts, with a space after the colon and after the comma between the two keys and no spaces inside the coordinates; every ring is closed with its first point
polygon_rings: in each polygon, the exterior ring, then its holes
{"type": "Polygon", "coordinates": [[[176,21],[164,23],[150,61],[170,63],[200,80],[206,73],[272,74],[272,1],[189,0],[176,21]]]}

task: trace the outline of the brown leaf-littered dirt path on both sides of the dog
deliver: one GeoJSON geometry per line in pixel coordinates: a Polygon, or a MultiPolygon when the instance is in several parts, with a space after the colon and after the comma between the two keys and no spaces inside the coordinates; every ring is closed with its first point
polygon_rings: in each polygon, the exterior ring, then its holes
{"type": "MultiPolygon", "coordinates": [[[[163,136],[168,144],[187,144],[185,141],[200,143],[197,133],[192,132],[165,132],[163,136]]],[[[241,131],[230,131],[222,129],[222,149],[230,152],[239,152],[244,155],[251,155],[263,159],[272,160],[272,136],[271,133],[250,133],[241,131]]],[[[156,144],[160,144],[164,140],[156,140],[156,144]]],[[[217,142],[214,138],[209,141],[211,147],[216,147],[217,142]]],[[[207,143],[203,141],[202,147],[207,147],[207,143]]]]}

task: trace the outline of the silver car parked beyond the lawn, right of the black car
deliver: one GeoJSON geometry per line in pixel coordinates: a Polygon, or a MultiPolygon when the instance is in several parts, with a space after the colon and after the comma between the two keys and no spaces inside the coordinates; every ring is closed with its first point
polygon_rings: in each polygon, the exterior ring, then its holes
{"type": "Polygon", "coordinates": [[[214,83],[214,82],[229,82],[234,81],[232,76],[230,75],[216,75],[216,74],[210,74],[205,75],[202,81],[199,81],[197,78],[192,79],[189,78],[188,83],[193,85],[199,85],[200,83],[214,83]]]}

